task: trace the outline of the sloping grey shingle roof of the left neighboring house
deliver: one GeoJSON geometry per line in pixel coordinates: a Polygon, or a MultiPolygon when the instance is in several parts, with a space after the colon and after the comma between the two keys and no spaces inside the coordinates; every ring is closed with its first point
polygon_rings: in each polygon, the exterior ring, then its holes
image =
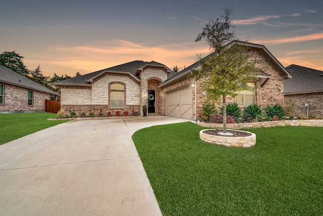
{"type": "Polygon", "coordinates": [[[51,95],[59,95],[58,93],[43,87],[41,84],[38,84],[37,82],[34,82],[33,80],[13,70],[10,70],[3,65],[0,65],[0,82],[17,85],[19,87],[44,92],[51,95]]]}

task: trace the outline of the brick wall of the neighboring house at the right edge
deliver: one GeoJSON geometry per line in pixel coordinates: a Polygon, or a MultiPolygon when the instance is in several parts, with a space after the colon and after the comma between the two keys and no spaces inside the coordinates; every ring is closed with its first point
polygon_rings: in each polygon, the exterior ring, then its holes
{"type": "Polygon", "coordinates": [[[297,95],[285,95],[285,102],[292,101],[295,103],[292,116],[307,117],[307,107],[305,103],[308,103],[308,115],[314,115],[315,117],[323,117],[323,92],[297,94],[297,95]]]}

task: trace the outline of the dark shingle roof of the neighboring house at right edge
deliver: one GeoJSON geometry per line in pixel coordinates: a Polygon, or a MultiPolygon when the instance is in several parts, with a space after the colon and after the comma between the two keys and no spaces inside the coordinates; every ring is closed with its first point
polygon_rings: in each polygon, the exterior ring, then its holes
{"type": "Polygon", "coordinates": [[[285,94],[323,92],[323,71],[294,64],[286,69],[293,78],[284,79],[285,94]]]}

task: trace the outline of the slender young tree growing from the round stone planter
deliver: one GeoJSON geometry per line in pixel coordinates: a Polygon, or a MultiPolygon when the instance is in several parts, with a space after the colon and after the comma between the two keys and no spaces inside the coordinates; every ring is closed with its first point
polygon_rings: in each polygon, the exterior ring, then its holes
{"type": "Polygon", "coordinates": [[[192,72],[196,79],[203,80],[202,89],[207,93],[208,101],[219,102],[222,97],[223,129],[227,133],[226,97],[235,97],[238,91],[251,90],[247,83],[256,79],[260,69],[248,61],[244,42],[234,40],[235,33],[231,30],[234,26],[230,20],[233,8],[223,11],[223,20],[210,20],[197,35],[195,42],[205,38],[213,53],[203,59],[199,56],[201,67],[192,72]]]}

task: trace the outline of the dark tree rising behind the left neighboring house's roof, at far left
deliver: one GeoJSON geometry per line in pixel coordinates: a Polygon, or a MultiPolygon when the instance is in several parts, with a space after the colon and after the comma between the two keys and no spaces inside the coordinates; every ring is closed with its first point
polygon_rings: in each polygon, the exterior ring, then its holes
{"type": "Polygon", "coordinates": [[[5,51],[0,54],[0,64],[17,72],[23,76],[28,77],[29,70],[23,63],[24,57],[20,54],[17,54],[16,51],[8,52],[5,51]]]}

